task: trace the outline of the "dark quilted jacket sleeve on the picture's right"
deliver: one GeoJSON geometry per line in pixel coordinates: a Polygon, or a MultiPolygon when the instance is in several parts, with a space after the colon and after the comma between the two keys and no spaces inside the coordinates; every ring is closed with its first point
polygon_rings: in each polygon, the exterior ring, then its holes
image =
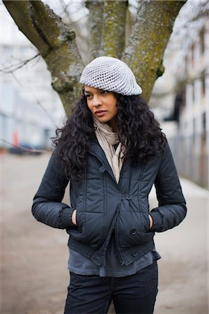
{"type": "Polygon", "coordinates": [[[155,179],[158,207],[150,211],[155,232],[162,232],[178,225],[187,214],[185,198],[182,193],[176,166],[173,162],[169,144],[161,156],[161,163],[155,179]]]}

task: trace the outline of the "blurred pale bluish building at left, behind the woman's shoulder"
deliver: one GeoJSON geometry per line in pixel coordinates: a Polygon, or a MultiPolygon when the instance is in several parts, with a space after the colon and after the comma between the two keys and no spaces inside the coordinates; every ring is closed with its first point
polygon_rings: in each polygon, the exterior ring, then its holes
{"type": "Polygon", "coordinates": [[[52,121],[36,103],[24,98],[13,82],[3,82],[0,111],[0,147],[12,144],[48,149],[54,135],[52,121]]]}

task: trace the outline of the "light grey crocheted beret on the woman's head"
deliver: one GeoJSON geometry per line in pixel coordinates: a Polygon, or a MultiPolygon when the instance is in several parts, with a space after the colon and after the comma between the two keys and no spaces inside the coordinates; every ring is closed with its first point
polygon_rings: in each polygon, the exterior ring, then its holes
{"type": "Polygon", "coordinates": [[[122,95],[139,95],[142,90],[132,70],[113,57],[98,57],[84,68],[80,83],[122,95]]]}

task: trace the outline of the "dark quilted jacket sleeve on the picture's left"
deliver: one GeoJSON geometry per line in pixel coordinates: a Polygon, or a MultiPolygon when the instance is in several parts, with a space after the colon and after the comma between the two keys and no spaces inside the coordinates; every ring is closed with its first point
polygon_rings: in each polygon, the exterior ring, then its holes
{"type": "Polygon", "coordinates": [[[68,179],[64,174],[63,163],[52,154],[41,184],[33,198],[32,214],[51,227],[65,229],[72,227],[72,211],[62,203],[68,179]]]}

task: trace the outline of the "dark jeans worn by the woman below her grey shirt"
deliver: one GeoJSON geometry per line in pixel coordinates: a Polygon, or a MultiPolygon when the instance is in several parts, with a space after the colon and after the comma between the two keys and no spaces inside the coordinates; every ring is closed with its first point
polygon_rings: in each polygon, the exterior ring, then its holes
{"type": "Polygon", "coordinates": [[[121,278],[70,273],[65,314],[104,314],[111,300],[116,313],[153,313],[157,295],[157,262],[121,278]]]}

